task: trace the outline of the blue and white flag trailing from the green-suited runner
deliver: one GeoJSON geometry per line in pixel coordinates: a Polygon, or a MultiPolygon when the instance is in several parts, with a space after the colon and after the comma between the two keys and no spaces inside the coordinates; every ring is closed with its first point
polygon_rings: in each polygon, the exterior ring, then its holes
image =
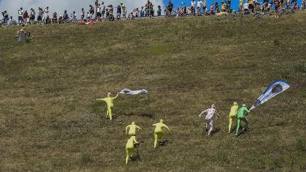
{"type": "Polygon", "coordinates": [[[282,93],[289,87],[290,84],[286,83],[285,81],[273,81],[270,86],[266,88],[266,91],[264,91],[263,94],[259,98],[257,98],[257,101],[254,103],[254,105],[252,105],[250,110],[253,110],[257,106],[265,103],[266,101],[275,97],[279,93],[282,93]]]}

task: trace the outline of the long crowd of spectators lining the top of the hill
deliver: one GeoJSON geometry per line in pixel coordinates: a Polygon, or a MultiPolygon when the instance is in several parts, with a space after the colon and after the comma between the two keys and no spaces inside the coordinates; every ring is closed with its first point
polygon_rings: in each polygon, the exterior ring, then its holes
{"type": "MultiPolygon", "coordinates": [[[[174,4],[169,0],[166,8],[164,9],[165,17],[180,17],[180,16],[203,16],[203,15],[218,15],[223,13],[266,13],[275,12],[276,17],[279,17],[280,10],[305,10],[306,0],[302,0],[301,5],[297,4],[297,0],[225,0],[215,3],[207,4],[207,0],[191,0],[190,6],[187,4],[181,4],[181,7],[177,7],[174,10],[174,4]],[[232,3],[239,3],[238,11],[234,11],[231,8],[232,3]]],[[[76,11],[72,13],[64,10],[64,13],[58,16],[57,12],[49,14],[50,8],[38,7],[36,12],[34,8],[30,8],[30,11],[24,10],[22,7],[18,9],[18,21],[15,21],[12,16],[8,15],[8,11],[2,11],[2,25],[11,25],[16,23],[21,24],[48,24],[48,23],[72,23],[72,22],[98,22],[98,21],[115,21],[115,20],[132,20],[134,18],[152,18],[153,16],[162,16],[162,6],[157,6],[157,13],[155,15],[154,4],[147,0],[145,6],[140,8],[134,8],[133,11],[127,13],[127,8],[123,2],[118,6],[109,4],[106,6],[105,2],[95,3],[95,6],[89,5],[88,11],[81,8],[80,18],[77,16],[76,11]],[[115,14],[114,14],[115,8],[115,14]],[[128,15],[127,15],[128,14],[128,15]]]]}

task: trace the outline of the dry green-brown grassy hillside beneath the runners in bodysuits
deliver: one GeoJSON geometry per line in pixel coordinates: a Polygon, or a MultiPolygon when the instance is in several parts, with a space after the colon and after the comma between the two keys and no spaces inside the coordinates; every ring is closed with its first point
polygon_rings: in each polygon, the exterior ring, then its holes
{"type": "Polygon", "coordinates": [[[305,171],[306,13],[0,28],[0,171],[305,171]],[[234,101],[250,108],[276,79],[292,88],[227,134],[234,101]],[[113,124],[96,98],[122,88],[113,124]],[[217,105],[205,137],[201,110],[217,105]],[[153,149],[164,118],[169,144],[153,149]],[[142,127],[142,161],[125,165],[125,126],[142,127]]]}

